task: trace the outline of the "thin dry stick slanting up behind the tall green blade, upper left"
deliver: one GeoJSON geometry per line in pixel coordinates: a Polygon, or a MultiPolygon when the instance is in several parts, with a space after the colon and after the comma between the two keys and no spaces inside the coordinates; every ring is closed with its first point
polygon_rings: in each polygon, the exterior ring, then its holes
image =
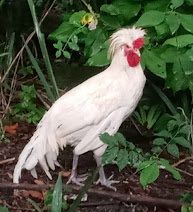
{"type": "MultiPolygon", "coordinates": [[[[50,10],[52,9],[52,7],[54,6],[54,4],[56,3],[56,0],[54,0],[52,2],[52,4],[50,5],[50,7],[48,8],[48,10],[46,11],[46,13],[44,14],[44,16],[42,17],[42,19],[40,20],[39,25],[42,24],[42,22],[44,21],[44,19],[47,17],[47,15],[49,14],[50,10]]],[[[23,50],[25,49],[25,46],[29,43],[29,41],[32,39],[32,37],[35,35],[35,30],[27,37],[23,47],[20,49],[20,51],[17,53],[17,55],[15,56],[15,58],[13,59],[12,63],[10,64],[9,68],[7,69],[7,71],[5,72],[4,76],[2,77],[0,84],[2,84],[7,76],[7,74],[9,73],[9,71],[11,70],[11,68],[13,67],[13,65],[15,64],[16,60],[18,59],[18,57],[20,56],[20,54],[22,54],[23,50]]]]}

